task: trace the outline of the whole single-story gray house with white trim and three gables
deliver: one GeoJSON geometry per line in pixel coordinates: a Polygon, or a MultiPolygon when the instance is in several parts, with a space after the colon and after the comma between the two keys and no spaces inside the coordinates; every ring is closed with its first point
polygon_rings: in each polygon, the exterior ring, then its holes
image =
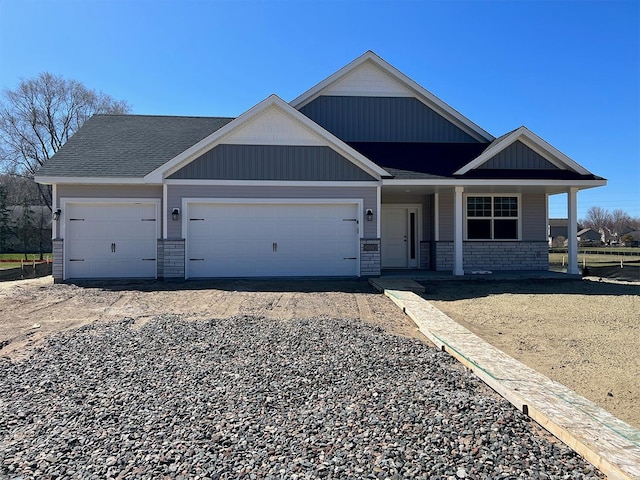
{"type": "Polygon", "coordinates": [[[57,281],[546,270],[548,196],[568,193],[577,231],[577,192],[606,184],[373,52],[237,118],[95,115],[36,181],[57,281]]]}

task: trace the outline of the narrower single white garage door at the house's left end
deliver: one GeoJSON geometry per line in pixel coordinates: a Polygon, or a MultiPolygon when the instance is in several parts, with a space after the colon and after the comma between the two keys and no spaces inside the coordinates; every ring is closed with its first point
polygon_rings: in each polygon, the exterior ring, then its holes
{"type": "Polygon", "coordinates": [[[69,203],[65,278],[155,278],[154,203],[69,203]]]}

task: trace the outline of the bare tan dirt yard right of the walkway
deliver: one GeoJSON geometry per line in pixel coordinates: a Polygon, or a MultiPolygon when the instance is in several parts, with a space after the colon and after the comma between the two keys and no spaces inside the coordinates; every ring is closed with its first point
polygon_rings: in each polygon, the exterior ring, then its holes
{"type": "Polygon", "coordinates": [[[476,335],[640,428],[638,283],[424,285],[424,298],[476,335]]]}

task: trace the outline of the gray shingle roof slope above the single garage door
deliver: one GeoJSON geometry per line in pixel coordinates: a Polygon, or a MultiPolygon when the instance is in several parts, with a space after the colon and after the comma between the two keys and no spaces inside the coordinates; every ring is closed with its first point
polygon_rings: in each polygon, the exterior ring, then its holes
{"type": "Polygon", "coordinates": [[[141,178],[231,120],[233,118],[94,115],[37,175],[141,178]]]}

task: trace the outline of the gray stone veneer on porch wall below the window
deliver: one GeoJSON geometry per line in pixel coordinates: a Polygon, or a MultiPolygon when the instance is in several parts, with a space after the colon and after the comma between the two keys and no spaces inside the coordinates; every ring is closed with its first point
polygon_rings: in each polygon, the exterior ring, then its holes
{"type": "MultiPolygon", "coordinates": [[[[435,269],[453,270],[453,242],[436,242],[435,269]]],[[[463,268],[471,270],[548,270],[549,245],[540,242],[463,242],[463,268]]]]}

